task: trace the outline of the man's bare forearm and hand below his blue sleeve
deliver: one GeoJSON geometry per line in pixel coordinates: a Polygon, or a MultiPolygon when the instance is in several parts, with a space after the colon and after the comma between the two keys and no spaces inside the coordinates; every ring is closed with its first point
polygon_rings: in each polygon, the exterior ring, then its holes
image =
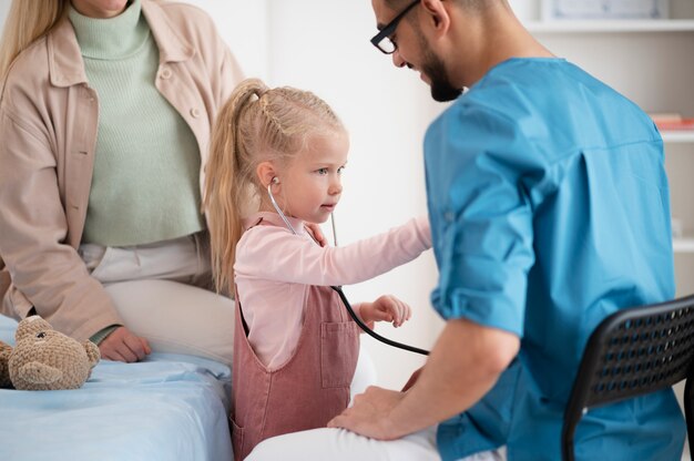
{"type": "Polygon", "coordinates": [[[450,319],[406,392],[368,388],[328,426],[392,440],[437,424],[489,392],[519,349],[520,339],[512,332],[450,319]]]}

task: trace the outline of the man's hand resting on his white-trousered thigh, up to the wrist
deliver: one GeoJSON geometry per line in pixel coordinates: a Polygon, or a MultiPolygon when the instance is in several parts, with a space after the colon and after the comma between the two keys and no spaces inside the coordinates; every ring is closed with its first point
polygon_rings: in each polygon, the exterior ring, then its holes
{"type": "Polygon", "coordinates": [[[376,386],[355,397],[354,406],[328,422],[328,428],[343,428],[377,440],[395,440],[399,433],[390,421],[390,411],[402,400],[404,393],[376,386]]]}

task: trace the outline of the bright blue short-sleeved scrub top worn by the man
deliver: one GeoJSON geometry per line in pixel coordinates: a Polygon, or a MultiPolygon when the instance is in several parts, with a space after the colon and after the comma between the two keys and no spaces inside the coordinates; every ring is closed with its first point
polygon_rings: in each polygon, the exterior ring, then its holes
{"type": "MultiPolygon", "coordinates": [[[[562,59],[511,59],[427,131],[428,206],[445,319],[521,338],[473,408],[439,426],[443,460],[507,445],[560,460],[564,407],[593,328],[674,296],[663,142],[634,103],[562,59]]],[[[671,389],[591,410],[579,460],[678,460],[671,389]]]]}

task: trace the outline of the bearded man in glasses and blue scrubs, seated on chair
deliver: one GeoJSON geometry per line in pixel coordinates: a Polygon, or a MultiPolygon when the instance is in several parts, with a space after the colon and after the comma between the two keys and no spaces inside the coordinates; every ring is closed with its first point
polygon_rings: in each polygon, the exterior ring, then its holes
{"type": "MultiPolygon", "coordinates": [[[[425,141],[431,300],[447,322],[407,392],[370,388],[329,424],[350,432],[288,436],[284,459],[299,440],[302,459],[428,459],[392,447],[437,428],[415,444],[443,460],[559,460],[591,331],[674,296],[662,139],[506,0],[371,3],[374,44],[456,100],[425,141]]],[[[589,412],[576,459],[677,460],[684,432],[667,389],[589,412]]]]}

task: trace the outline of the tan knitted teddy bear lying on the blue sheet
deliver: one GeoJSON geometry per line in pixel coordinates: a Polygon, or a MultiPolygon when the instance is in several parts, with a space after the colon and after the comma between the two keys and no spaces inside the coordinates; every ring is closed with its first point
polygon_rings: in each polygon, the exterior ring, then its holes
{"type": "Polygon", "coordinates": [[[101,359],[91,341],[80,344],[39,316],[21,320],[16,345],[0,341],[0,387],[18,390],[78,389],[101,359]]]}

